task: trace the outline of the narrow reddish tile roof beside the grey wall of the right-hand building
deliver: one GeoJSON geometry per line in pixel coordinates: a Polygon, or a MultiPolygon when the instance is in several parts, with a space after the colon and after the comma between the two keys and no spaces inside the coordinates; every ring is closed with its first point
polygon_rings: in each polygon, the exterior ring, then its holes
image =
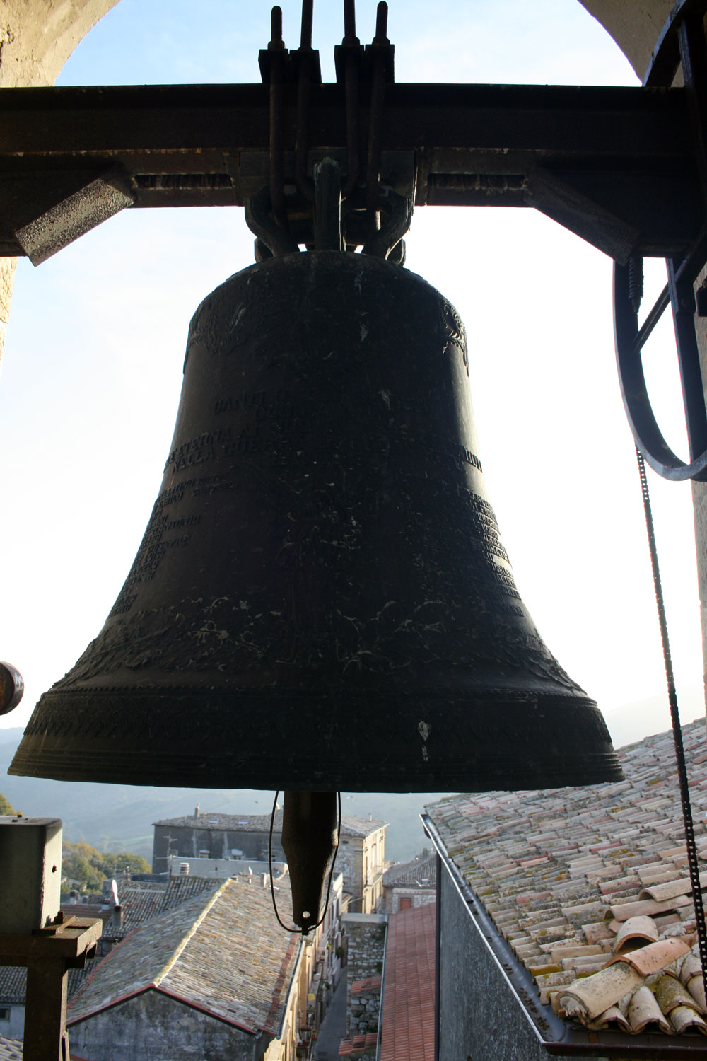
{"type": "Polygon", "coordinates": [[[434,1061],[435,915],[427,903],[388,921],[381,1061],[434,1061]]]}

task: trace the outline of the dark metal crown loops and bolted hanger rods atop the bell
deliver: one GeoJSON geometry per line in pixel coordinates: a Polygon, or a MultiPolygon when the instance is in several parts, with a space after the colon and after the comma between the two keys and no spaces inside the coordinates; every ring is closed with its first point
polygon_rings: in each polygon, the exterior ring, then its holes
{"type": "Polygon", "coordinates": [[[335,57],[337,80],[344,89],[347,146],[344,153],[330,149],[317,158],[318,152],[310,144],[312,90],[313,86],[321,88],[319,60],[312,50],[312,0],[302,2],[301,44],[295,52],[285,49],[280,8],[272,8],[271,39],[260,53],[263,81],[269,86],[269,179],[266,187],[262,182],[253,187],[249,180],[251,194],[245,202],[246,223],[258,237],[257,261],[290,254],[303,243],[316,250],[361,246],[365,254],[404,262],[402,237],[412,215],[414,157],[403,153],[410,156],[411,166],[401,187],[390,172],[391,158],[395,162],[401,153],[382,150],[386,87],[394,79],[394,49],[386,36],[387,10],[385,2],[378,3],[375,36],[364,49],[356,36],[354,0],[344,2],[344,36],[335,57]],[[291,154],[283,149],[284,97],[289,83],[296,84],[297,93],[291,154]],[[358,144],[360,89],[369,110],[365,173],[358,144]]]}

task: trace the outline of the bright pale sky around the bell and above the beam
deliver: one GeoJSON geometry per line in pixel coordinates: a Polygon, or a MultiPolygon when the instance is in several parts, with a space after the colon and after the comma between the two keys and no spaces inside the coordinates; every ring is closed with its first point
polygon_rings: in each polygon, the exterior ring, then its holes
{"type": "MultiPolygon", "coordinates": [[[[295,48],[299,0],[282,6],[295,48]]],[[[315,4],[328,81],[341,6],[315,4]]],[[[374,0],[357,3],[363,41],[374,12],[374,0]]],[[[193,0],[122,0],[58,83],[258,81],[268,36],[267,4],[202,0],[196,22],[193,0]]],[[[576,0],[391,0],[389,36],[399,82],[637,84],[576,0]]],[[[408,267],[466,326],[480,457],[522,596],[611,728],[613,710],[665,690],[614,360],[612,263],[524,209],[422,208],[407,246],[408,267]]],[[[124,211],[38,268],[20,261],[0,380],[0,658],[26,693],[0,726],[23,725],[101,629],[161,482],[189,319],[251,262],[238,208],[124,211]]],[[[658,268],[653,285],[664,282],[658,268]]],[[[659,420],[684,453],[669,321],[649,356],[659,420]]],[[[677,681],[696,688],[690,487],[653,473],[650,485],[677,681]]],[[[647,732],[668,725],[666,708],[647,732]]]]}

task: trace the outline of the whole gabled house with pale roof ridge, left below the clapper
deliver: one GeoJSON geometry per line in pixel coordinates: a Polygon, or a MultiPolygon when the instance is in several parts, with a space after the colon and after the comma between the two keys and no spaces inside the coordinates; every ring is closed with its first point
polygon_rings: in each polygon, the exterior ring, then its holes
{"type": "MultiPolygon", "coordinates": [[[[284,908],[289,901],[279,884],[284,908]]],[[[72,998],[72,1057],[85,1061],[294,1061],[307,1054],[324,973],[334,978],[340,879],[311,944],[282,930],[269,887],[229,880],[139,925],[72,998]],[[329,946],[328,946],[329,942],[329,946]],[[326,955],[324,958],[322,955],[326,955]],[[328,966],[326,962],[330,962],[328,966]]]]}

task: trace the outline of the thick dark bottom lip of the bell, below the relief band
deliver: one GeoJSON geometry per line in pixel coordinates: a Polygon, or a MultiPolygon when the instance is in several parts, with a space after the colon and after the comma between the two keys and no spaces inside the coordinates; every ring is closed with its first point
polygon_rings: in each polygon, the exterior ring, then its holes
{"type": "Polygon", "coordinates": [[[8,772],[321,792],[525,790],[623,778],[588,697],[489,689],[435,698],[55,690],[39,701],[8,772]]]}

